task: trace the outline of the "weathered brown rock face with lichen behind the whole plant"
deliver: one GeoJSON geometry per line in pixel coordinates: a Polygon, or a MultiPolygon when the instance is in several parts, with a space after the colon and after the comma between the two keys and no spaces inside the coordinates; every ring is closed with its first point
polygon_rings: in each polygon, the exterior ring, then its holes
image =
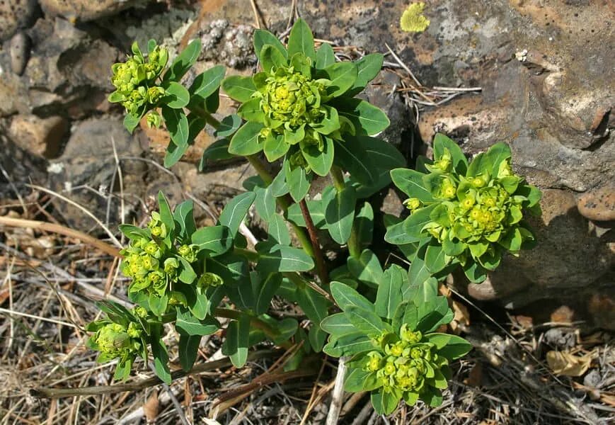
{"type": "MultiPolygon", "coordinates": [[[[173,167],[173,176],[156,166],[168,139],[163,131],[143,127],[129,135],[122,128],[122,111],[106,101],[110,65],[125,57],[132,40],[156,38],[176,51],[200,37],[197,71],[222,63],[229,73],[249,74],[254,26],[282,33],[294,3],[255,1],[255,12],[247,0],[0,0],[1,204],[15,204],[16,193],[28,193],[31,183],[115,226],[120,215],[148,208],[159,189],[174,201],[195,196],[216,204],[234,196],[251,174],[246,164],[197,173],[202,150],[214,140],[210,134],[173,167]]],[[[397,52],[399,61],[386,57],[390,67],[367,96],[389,113],[384,137],[410,163],[430,152],[437,131],[469,155],[503,140],[512,147],[516,171],[544,191],[543,216],[532,222],[536,249],[507,258],[482,285],[452,283],[477,300],[524,314],[548,320],[558,309],[565,312],[562,322],[615,329],[611,1],[427,1],[431,23],[418,35],[399,28],[406,1],[296,4],[316,38],[349,52],[386,53],[386,45],[397,52]],[[421,105],[403,96],[408,74],[399,62],[423,91],[481,91],[421,105]]],[[[220,114],[230,111],[223,98],[220,114]]],[[[59,220],[96,232],[78,208],[54,197],[50,202],[59,220]]],[[[402,211],[396,193],[386,195],[382,208],[402,211]]]]}

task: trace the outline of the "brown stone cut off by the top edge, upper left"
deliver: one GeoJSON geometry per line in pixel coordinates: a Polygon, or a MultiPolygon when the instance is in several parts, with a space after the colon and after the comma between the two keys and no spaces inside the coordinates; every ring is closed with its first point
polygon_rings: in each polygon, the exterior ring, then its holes
{"type": "Polygon", "coordinates": [[[62,16],[73,22],[92,21],[143,3],[142,0],[40,0],[46,16],[62,16]]]}

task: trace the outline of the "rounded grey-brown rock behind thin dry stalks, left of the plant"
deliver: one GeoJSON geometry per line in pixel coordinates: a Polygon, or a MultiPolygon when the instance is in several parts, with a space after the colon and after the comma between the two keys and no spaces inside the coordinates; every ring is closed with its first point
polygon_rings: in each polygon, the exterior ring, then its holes
{"type": "MultiPolygon", "coordinates": [[[[62,156],[51,162],[49,185],[83,205],[101,221],[115,227],[120,222],[120,179],[115,154],[122,166],[125,218],[140,205],[146,163],[127,159],[143,153],[139,143],[122,126],[119,117],[91,118],[74,125],[62,156]],[[112,195],[110,195],[112,193],[112,195]]],[[[71,227],[100,232],[81,209],[54,199],[54,207],[71,227]]]]}

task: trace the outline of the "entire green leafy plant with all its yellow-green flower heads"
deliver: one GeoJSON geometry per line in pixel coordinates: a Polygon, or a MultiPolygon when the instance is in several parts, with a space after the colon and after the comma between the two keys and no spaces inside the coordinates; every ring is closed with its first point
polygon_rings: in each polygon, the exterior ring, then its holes
{"type": "MultiPolygon", "coordinates": [[[[435,162],[421,159],[418,171],[400,168],[406,165],[403,156],[372,137],[389,125],[386,115],[354,97],[378,74],[382,55],[337,62],[330,45],[314,48],[302,20],[292,28],[288,47],[272,33],[255,31],[262,72],[222,81],[224,68],[214,67],[184,89],[180,79],[199,47],[197,40],[190,42],[166,68],[166,51],[155,42],[149,42],[147,57],[134,45],[134,56],[113,66],[117,91],[110,100],[127,108],[125,124],[131,131],[146,114],[152,117],[148,123],[165,123],[171,133],[166,166],[175,164],[209,123],[219,140],[205,150],[200,169],[240,155],[258,176],[243,182],[246,192],[227,203],[214,226],[197,228],[192,202],[172,210],[162,193],[159,211],[146,227],[120,226],[130,239],[121,270],[132,278],[128,300],[137,307],[100,304],[107,318],[88,327],[95,332],[89,346],[100,351],[98,360],[118,358],[115,377],[126,378],[137,357],[146,361],[151,352],[156,375],[170,382],[162,339],[166,330],[175,327],[178,361],[190,370],[201,337],[220,329],[217,318],[224,317],[229,323],[222,352],[237,367],[255,344],[297,344],[287,368],[320,351],[350,356],[346,389],[371,391],[378,412],[391,412],[400,399],[439,404],[449,362],[470,346],[437,332],[452,319],[447,299],[437,295],[437,280],[458,263],[478,270],[495,255],[499,262],[500,247],[517,251],[530,239],[517,220],[520,208],[536,208],[539,192],[512,174],[505,145],[468,164],[454,142],[438,135],[435,162]],[[242,104],[238,114],[217,120],[212,113],[221,82],[242,104]],[[137,96],[150,90],[160,96],[137,96]],[[135,91],[138,101],[131,97],[135,91]],[[269,173],[260,152],[277,174],[269,173]],[[332,184],[309,198],[314,176],[326,175],[332,184]],[[385,239],[408,255],[409,271],[399,265],[383,270],[374,252],[376,217],[369,197],[391,177],[411,197],[407,205],[413,214],[403,222],[385,217],[385,239]],[[493,205],[486,200],[491,191],[493,205]],[[498,209],[503,221],[483,225],[476,217],[470,236],[460,233],[454,221],[473,219],[461,209],[469,198],[498,209]],[[266,239],[255,246],[248,246],[240,232],[251,208],[268,225],[266,239]],[[336,268],[321,252],[319,238],[325,233],[338,244],[342,261],[336,268]],[[293,246],[293,234],[301,247],[293,246]],[[464,242],[458,244],[460,234],[464,242]],[[311,325],[272,317],[273,297],[297,303],[311,325]]],[[[496,210],[489,212],[495,217],[496,210]]]]}

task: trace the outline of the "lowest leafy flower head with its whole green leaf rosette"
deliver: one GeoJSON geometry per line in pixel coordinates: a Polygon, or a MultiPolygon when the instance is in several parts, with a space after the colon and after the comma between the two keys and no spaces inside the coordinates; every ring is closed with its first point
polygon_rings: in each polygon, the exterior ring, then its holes
{"type": "Polygon", "coordinates": [[[351,356],[345,390],[371,391],[380,414],[393,412],[402,398],[410,405],[422,399],[439,406],[451,378],[449,362],[472,346],[437,332],[453,319],[447,298],[437,295],[437,280],[418,285],[393,265],[384,271],[373,303],[344,283],[331,283],[331,293],[343,312],[321,322],[331,334],[323,351],[351,356]]]}

